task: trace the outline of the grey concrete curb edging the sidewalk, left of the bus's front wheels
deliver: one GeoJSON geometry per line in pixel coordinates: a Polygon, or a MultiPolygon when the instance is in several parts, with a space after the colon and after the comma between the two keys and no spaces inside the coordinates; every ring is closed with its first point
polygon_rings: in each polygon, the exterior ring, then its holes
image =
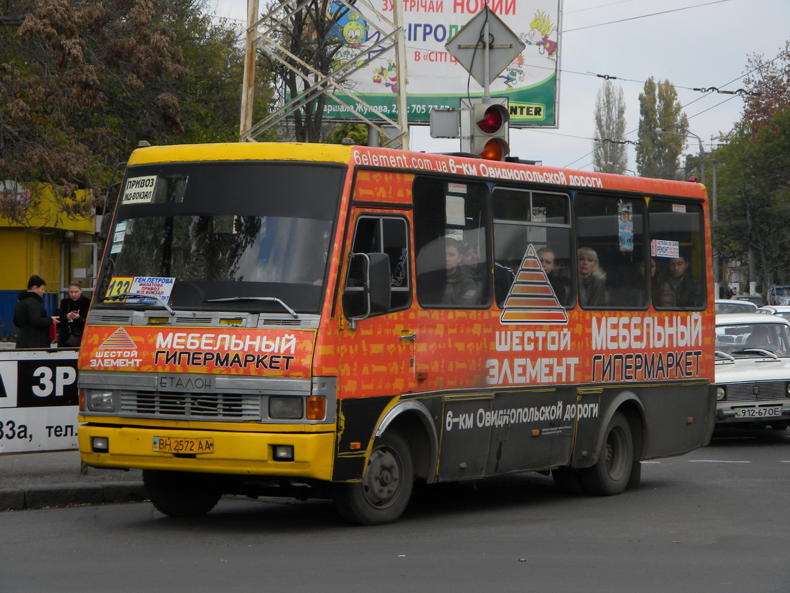
{"type": "Polygon", "coordinates": [[[0,511],[71,507],[80,504],[148,500],[142,482],[105,482],[101,485],[63,484],[0,489],[0,511]]]}

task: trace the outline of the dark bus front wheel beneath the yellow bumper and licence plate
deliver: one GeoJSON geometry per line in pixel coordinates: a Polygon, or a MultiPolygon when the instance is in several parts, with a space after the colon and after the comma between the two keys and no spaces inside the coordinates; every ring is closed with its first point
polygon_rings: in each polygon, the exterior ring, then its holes
{"type": "Polygon", "coordinates": [[[221,496],[209,477],[183,471],[143,470],[143,484],[156,510],[171,517],[205,515],[221,496]]]}

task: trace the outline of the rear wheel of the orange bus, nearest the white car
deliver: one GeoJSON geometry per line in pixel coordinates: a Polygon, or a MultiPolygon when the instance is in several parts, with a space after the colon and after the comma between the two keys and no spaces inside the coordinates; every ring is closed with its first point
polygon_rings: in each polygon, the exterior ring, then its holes
{"type": "Polygon", "coordinates": [[[596,496],[611,496],[626,489],[634,463],[634,438],[631,436],[628,419],[620,412],[611,417],[604,446],[598,462],[579,470],[581,483],[588,493],[596,496]]]}

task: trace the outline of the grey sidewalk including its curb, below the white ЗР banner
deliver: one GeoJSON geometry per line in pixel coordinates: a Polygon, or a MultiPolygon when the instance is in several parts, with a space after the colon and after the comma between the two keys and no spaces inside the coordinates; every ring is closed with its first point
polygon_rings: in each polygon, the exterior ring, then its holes
{"type": "Polygon", "coordinates": [[[145,499],[141,470],[83,468],[79,451],[0,455],[0,511],[145,499]]]}

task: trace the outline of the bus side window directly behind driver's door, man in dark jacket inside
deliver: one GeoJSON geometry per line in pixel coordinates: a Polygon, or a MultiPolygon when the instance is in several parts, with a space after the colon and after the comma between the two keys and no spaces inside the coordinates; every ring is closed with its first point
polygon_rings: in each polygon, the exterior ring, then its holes
{"type": "Polygon", "coordinates": [[[412,193],[419,304],[487,306],[492,281],[486,186],[417,177],[412,193]]]}

